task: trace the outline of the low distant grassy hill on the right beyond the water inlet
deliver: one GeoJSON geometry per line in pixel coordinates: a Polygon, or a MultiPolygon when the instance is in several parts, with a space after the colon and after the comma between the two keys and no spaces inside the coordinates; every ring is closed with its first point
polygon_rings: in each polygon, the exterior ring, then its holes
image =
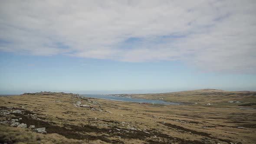
{"type": "Polygon", "coordinates": [[[256,103],[255,91],[223,91],[217,89],[201,89],[182,92],[170,92],[159,94],[134,94],[133,97],[146,99],[161,99],[163,101],[183,102],[183,103],[197,103],[205,105],[212,103],[215,105],[239,105],[235,103],[240,101],[245,103],[256,103]],[[228,103],[234,101],[234,103],[228,103]]]}

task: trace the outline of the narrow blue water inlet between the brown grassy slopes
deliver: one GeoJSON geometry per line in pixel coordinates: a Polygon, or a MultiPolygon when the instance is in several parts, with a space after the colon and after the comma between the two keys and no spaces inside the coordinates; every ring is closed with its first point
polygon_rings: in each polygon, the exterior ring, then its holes
{"type": "Polygon", "coordinates": [[[130,102],[141,102],[141,103],[151,103],[151,104],[181,105],[181,103],[166,102],[166,101],[161,101],[161,100],[115,97],[115,96],[108,96],[108,95],[82,95],[82,96],[88,97],[88,98],[102,98],[102,99],[109,99],[109,100],[115,100],[115,101],[130,101],[130,102]]]}

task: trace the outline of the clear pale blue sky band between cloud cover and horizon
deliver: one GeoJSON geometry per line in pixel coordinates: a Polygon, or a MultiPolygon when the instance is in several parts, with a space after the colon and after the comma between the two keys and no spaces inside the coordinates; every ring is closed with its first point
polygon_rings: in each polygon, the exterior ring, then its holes
{"type": "Polygon", "coordinates": [[[201,88],[256,90],[256,75],[200,72],[181,62],[117,62],[1,52],[1,94],[174,92],[201,88]]]}

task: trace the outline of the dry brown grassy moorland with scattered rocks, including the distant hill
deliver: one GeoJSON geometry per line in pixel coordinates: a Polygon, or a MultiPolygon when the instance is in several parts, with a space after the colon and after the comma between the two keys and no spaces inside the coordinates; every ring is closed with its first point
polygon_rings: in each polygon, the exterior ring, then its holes
{"type": "Polygon", "coordinates": [[[0,143],[255,144],[256,110],[240,109],[255,108],[255,92],[208,89],[137,96],[191,104],[138,104],[61,93],[1,97],[0,143]],[[77,101],[85,106],[77,107],[77,101]],[[22,112],[3,115],[16,110],[22,112]],[[47,134],[11,127],[11,119],[44,127],[47,134]]]}

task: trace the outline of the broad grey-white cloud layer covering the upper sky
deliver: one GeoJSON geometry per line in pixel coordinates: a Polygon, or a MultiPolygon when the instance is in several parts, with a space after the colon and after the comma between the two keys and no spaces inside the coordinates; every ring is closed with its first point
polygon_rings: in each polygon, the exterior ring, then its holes
{"type": "Polygon", "coordinates": [[[255,0],[0,2],[0,51],[256,72],[255,0]]]}

